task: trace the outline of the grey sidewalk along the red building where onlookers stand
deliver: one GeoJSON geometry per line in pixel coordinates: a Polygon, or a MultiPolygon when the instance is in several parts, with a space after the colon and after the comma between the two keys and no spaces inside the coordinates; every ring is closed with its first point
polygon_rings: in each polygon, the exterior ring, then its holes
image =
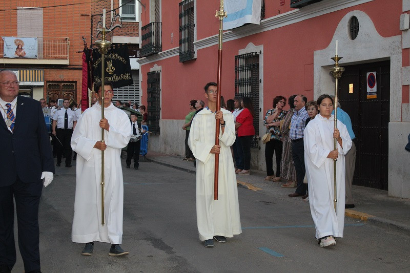
{"type": "MultiPolygon", "coordinates": [[[[149,151],[148,161],[173,167],[181,171],[196,173],[193,162],[182,160],[182,156],[172,156],[149,151]]],[[[254,191],[264,191],[280,198],[289,198],[295,188],[283,188],[284,182],[265,182],[266,174],[251,170],[251,175],[237,175],[238,186],[254,191]]],[[[388,197],[387,191],[353,185],[355,208],[345,209],[345,216],[360,219],[387,230],[410,236],[410,200],[388,197]]],[[[290,199],[290,198],[289,198],[290,199]]],[[[304,202],[301,198],[292,198],[304,202]]]]}

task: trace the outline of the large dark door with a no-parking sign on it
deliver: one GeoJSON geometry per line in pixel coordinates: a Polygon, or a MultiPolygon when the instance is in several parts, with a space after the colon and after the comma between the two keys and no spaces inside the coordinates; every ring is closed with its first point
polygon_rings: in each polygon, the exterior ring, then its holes
{"type": "Polygon", "coordinates": [[[390,61],[344,66],[338,90],[341,108],[352,119],[356,138],[353,184],[388,190],[390,61]],[[367,94],[367,76],[376,72],[375,94],[367,94]]]}

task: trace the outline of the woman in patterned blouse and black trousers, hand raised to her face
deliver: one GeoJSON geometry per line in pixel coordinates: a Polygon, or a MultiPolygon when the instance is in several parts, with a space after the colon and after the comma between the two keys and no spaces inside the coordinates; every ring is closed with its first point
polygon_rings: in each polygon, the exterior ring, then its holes
{"type": "Polygon", "coordinates": [[[280,121],[284,119],[287,111],[283,110],[286,105],[286,99],[283,96],[277,96],[273,99],[273,109],[266,112],[263,124],[266,132],[271,133],[271,139],[265,144],[265,162],[267,177],[265,181],[280,181],[280,161],[282,159],[282,136],[280,134],[280,121]],[[276,151],[276,153],[275,153],[276,151]],[[273,154],[276,154],[276,177],[273,172],[273,154]]]}

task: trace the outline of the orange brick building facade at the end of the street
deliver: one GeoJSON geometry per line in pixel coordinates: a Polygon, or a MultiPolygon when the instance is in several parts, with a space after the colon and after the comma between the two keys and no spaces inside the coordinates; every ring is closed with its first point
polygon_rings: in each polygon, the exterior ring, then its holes
{"type": "MultiPolygon", "coordinates": [[[[128,1],[126,1],[128,2],[128,1]]],[[[126,3],[124,2],[124,3],[126,3]]],[[[136,1],[135,1],[136,2],[136,1]]],[[[122,0],[97,3],[65,1],[2,1],[0,4],[0,34],[6,37],[37,37],[38,58],[5,58],[4,41],[0,40],[2,69],[15,71],[20,82],[22,95],[34,99],[71,98],[80,101],[82,81],[82,53],[84,43],[90,47],[101,36],[96,36],[103,8],[114,10],[113,14],[129,11],[119,8],[122,0]],[[29,9],[30,8],[30,9],[29,9]],[[34,76],[37,75],[37,76],[34,76]]],[[[128,4],[129,5],[129,4],[128,4]]],[[[135,7],[135,5],[134,5],[135,7]]],[[[132,9],[132,6],[131,6],[132,9]]],[[[132,19],[120,22],[107,39],[113,43],[138,45],[138,9],[132,19]],[[130,22],[131,21],[131,22],[130,22]]],[[[106,27],[110,27],[111,16],[107,14],[106,27]]],[[[100,23],[101,24],[101,23],[100,23]]]]}

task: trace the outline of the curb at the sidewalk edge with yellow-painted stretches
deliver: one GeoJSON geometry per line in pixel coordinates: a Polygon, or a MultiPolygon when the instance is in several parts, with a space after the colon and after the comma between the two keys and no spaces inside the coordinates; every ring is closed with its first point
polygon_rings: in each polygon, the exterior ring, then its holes
{"type": "MultiPolygon", "coordinates": [[[[148,157],[146,159],[149,162],[153,162],[153,163],[157,163],[157,164],[160,164],[160,165],[163,165],[163,166],[171,167],[171,168],[179,170],[179,171],[196,174],[196,171],[188,169],[187,167],[175,166],[171,163],[157,161],[155,159],[150,159],[148,157]]],[[[236,182],[238,184],[238,187],[247,188],[248,190],[252,190],[252,191],[261,191],[261,190],[263,190],[262,188],[256,187],[256,186],[254,186],[254,185],[252,185],[251,183],[248,183],[248,182],[243,182],[243,181],[240,181],[240,180],[236,180],[236,182]]],[[[367,213],[357,212],[357,211],[354,211],[352,209],[345,209],[344,216],[349,217],[349,218],[353,218],[353,219],[359,219],[359,220],[367,222],[369,224],[372,224],[372,225],[381,227],[383,229],[386,229],[388,232],[399,232],[399,233],[404,233],[407,236],[410,236],[410,226],[404,225],[404,224],[399,223],[397,221],[388,220],[388,219],[377,217],[377,216],[370,215],[370,214],[367,214],[367,213]]]]}

